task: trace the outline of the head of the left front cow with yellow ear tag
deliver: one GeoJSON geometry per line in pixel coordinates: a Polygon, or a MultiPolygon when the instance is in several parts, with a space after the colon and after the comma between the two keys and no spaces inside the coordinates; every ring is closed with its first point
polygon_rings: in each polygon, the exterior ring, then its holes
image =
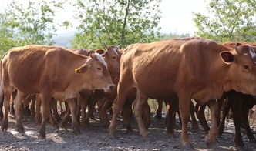
{"type": "Polygon", "coordinates": [[[75,69],[77,74],[85,74],[91,89],[103,89],[105,92],[115,88],[107,69],[107,63],[97,53],[90,55],[86,63],[75,69]]]}

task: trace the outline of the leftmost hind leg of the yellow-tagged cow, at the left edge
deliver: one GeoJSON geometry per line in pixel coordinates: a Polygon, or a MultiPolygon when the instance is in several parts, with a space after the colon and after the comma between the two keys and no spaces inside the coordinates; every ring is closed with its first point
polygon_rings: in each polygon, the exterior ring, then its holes
{"type": "Polygon", "coordinates": [[[2,131],[7,131],[8,129],[8,109],[10,108],[10,99],[11,99],[12,92],[5,91],[5,99],[4,99],[4,119],[2,121],[2,131]]]}

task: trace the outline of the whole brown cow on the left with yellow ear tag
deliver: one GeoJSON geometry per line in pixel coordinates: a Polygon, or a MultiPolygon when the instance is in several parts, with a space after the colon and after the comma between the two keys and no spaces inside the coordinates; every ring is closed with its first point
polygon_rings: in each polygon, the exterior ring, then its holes
{"type": "Polygon", "coordinates": [[[17,89],[15,116],[19,131],[23,129],[20,114],[22,99],[25,94],[40,93],[43,116],[39,138],[45,138],[45,123],[49,118],[51,97],[67,100],[72,112],[74,132],[80,133],[73,98],[82,89],[113,89],[115,86],[106,66],[101,55],[77,55],[69,49],[57,46],[27,45],[9,50],[1,65],[5,91],[2,130],[8,129],[9,99],[12,90],[17,89]]]}

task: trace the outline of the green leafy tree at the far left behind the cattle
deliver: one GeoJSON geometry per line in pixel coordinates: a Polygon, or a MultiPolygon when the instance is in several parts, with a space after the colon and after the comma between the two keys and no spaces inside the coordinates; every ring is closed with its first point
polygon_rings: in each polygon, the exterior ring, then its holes
{"type": "Polygon", "coordinates": [[[61,7],[62,2],[54,1],[29,1],[26,6],[9,3],[0,13],[0,53],[22,45],[52,45],[56,33],[53,8],[61,7]]]}

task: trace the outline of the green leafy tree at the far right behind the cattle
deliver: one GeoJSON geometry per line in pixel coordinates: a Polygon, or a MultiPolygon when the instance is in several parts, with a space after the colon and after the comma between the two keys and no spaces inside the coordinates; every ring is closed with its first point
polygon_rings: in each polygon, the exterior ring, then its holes
{"type": "Polygon", "coordinates": [[[255,0],[210,0],[209,15],[194,13],[196,35],[217,42],[256,41],[255,0]]]}

